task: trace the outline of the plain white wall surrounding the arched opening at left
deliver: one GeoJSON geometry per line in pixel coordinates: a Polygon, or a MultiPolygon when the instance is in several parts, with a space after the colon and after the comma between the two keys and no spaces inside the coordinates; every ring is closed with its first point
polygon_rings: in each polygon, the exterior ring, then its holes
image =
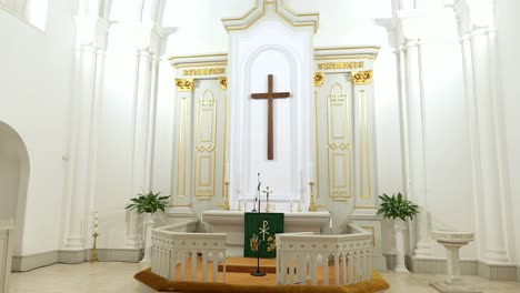
{"type": "Polygon", "coordinates": [[[61,156],[74,26],[72,1],[49,2],[46,32],[0,10],[0,121],[20,134],[31,165],[23,247],[18,247],[22,254],[57,250],[61,240],[61,156]]]}

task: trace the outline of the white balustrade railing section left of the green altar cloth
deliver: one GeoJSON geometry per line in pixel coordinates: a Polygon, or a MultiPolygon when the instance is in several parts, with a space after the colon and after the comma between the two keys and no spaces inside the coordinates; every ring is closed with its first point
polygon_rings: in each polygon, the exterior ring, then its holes
{"type": "MultiPolygon", "coordinates": [[[[197,221],[194,221],[197,223],[197,221]]],[[[207,282],[208,263],[211,262],[212,282],[218,281],[218,265],[222,264],[222,282],[226,282],[226,233],[190,233],[186,223],[152,229],[151,270],[171,281],[187,281],[188,265],[191,260],[191,280],[207,282]],[[202,275],[198,279],[198,255],[201,255],[202,275]],[[179,270],[176,270],[180,264],[179,270]]],[[[194,230],[193,230],[194,231],[194,230]]]]}

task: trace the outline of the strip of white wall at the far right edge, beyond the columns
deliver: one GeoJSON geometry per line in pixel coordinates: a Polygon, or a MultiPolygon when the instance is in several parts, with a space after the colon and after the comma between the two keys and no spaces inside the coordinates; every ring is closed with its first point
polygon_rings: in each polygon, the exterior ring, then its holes
{"type": "Polygon", "coordinates": [[[520,1],[498,0],[497,1],[498,20],[498,41],[499,41],[499,61],[500,72],[497,78],[501,81],[501,115],[503,114],[504,139],[506,139],[506,161],[509,166],[509,195],[510,203],[506,209],[513,215],[511,224],[514,233],[516,244],[510,247],[511,252],[517,252],[517,265],[520,265],[520,87],[518,87],[518,77],[520,77],[520,58],[518,48],[520,47],[520,1]]]}

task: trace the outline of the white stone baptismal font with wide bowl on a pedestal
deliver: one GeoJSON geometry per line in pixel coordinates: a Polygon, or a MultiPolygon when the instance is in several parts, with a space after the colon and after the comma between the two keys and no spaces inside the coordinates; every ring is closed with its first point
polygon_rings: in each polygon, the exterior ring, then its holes
{"type": "Polygon", "coordinates": [[[430,285],[442,293],[470,292],[480,293],[481,290],[464,284],[460,276],[459,250],[473,241],[473,233],[432,231],[431,236],[446,249],[447,276],[444,281],[434,281],[430,285]]]}

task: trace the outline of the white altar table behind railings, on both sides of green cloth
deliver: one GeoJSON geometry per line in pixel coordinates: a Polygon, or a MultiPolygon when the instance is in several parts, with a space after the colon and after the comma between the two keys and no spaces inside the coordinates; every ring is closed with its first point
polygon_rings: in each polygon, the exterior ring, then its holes
{"type": "MultiPolygon", "coordinates": [[[[228,255],[243,254],[243,212],[206,211],[202,221],[210,224],[213,233],[228,233],[228,255]]],[[[329,233],[332,222],[329,212],[286,212],[284,233],[329,233]]]]}

